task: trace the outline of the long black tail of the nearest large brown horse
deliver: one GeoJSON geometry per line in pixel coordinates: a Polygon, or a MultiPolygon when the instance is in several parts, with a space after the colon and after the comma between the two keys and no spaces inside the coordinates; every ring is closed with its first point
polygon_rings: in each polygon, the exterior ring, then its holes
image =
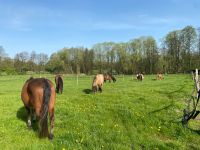
{"type": "Polygon", "coordinates": [[[41,109],[41,117],[40,117],[40,137],[46,137],[49,135],[48,131],[48,109],[49,109],[49,101],[51,97],[51,87],[47,79],[43,80],[44,93],[43,93],[43,104],[41,109]]]}

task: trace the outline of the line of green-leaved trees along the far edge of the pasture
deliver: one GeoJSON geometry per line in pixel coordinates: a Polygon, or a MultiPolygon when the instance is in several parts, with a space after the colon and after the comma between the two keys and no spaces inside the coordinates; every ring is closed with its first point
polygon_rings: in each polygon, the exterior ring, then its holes
{"type": "Polygon", "coordinates": [[[35,51],[7,56],[0,46],[0,73],[31,72],[96,74],[186,73],[200,67],[200,28],[169,32],[158,46],[152,36],[128,42],[97,43],[92,48],[63,48],[48,57],[35,51]]]}

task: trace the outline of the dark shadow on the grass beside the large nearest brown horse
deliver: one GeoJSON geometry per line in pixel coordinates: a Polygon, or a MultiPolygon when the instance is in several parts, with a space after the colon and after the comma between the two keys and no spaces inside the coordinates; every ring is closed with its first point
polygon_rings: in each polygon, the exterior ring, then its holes
{"type": "MultiPolygon", "coordinates": [[[[27,113],[25,107],[19,108],[18,111],[17,111],[16,116],[17,116],[17,118],[18,118],[19,120],[25,122],[25,123],[26,123],[26,127],[28,128],[28,125],[27,125],[28,113],[27,113]]],[[[32,120],[31,122],[32,122],[32,128],[31,128],[31,129],[33,129],[33,131],[39,131],[39,128],[38,128],[38,121],[32,120]]],[[[24,126],[25,126],[25,124],[24,124],[24,126]]]]}

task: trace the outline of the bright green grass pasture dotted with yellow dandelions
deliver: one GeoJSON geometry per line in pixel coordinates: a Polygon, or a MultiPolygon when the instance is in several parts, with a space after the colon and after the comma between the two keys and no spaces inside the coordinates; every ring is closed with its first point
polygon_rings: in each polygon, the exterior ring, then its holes
{"type": "Polygon", "coordinates": [[[87,93],[92,77],[80,77],[77,85],[76,77],[65,76],[53,141],[26,126],[20,92],[27,78],[0,76],[0,149],[200,149],[200,121],[190,121],[189,129],[180,123],[193,89],[190,75],[142,82],[119,76],[95,95],[87,93]]]}

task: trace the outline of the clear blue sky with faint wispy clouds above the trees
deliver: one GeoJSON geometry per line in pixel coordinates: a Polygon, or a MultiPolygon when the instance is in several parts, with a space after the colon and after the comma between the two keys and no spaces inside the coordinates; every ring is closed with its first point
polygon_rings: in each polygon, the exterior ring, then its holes
{"type": "Polygon", "coordinates": [[[52,54],[200,26],[200,0],[0,0],[0,46],[52,54]]]}

